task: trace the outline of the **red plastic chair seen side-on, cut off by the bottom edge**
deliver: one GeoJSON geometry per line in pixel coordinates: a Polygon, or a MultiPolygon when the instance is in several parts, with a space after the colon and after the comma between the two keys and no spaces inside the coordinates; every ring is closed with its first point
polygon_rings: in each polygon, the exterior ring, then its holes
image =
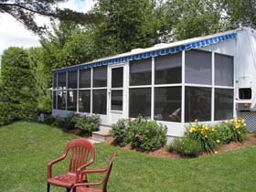
{"type": "Polygon", "coordinates": [[[98,174],[105,173],[105,176],[101,182],[98,183],[77,183],[71,188],[71,192],[107,192],[108,180],[112,171],[112,162],[115,158],[115,153],[112,155],[111,161],[107,168],[84,170],[82,174],[98,174]],[[102,186],[102,188],[91,188],[90,186],[102,186]]]}

